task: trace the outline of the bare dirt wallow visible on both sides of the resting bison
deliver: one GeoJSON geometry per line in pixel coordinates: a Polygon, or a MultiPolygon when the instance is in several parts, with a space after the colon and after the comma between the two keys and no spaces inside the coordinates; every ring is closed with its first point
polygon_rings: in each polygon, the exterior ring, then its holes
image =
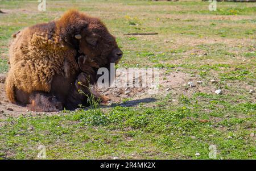
{"type": "MultiPolygon", "coordinates": [[[[156,94],[150,94],[149,87],[119,87],[113,86],[110,88],[100,89],[102,94],[107,95],[110,98],[110,104],[120,105],[121,106],[136,106],[139,103],[151,103],[156,101],[159,95],[166,94],[166,89],[179,89],[179,87],[189,80],[189,76],[186,73],[174,72],[171,74],[165,74],[164,70],[159,71],[159,83],[157,86],[161,85],[156,91],[156,94]],[[127,101],[125,100],[127,99],[127,101]],[[125,103],[122,103],[124,102],[125,103]]],[[[122,73],[116,77],[116,80],[121,80],[126,74],[122,73]]],[[[5,74],[1,74],[0,77],[2,80],[5,80],[5,74]]],[[[138,77],[135,77],[133,80],[136,80],[138,77]]],[[[117,81],[118,82],[118,81],[117,81]]],[[[133,81],[134,82],[134,81],[133,81]]],[[[141,81],[142,82],[142,81],[141,81]]],[[[152,86],[152,85],[150,85],[152,86]]],[[[54,115],[59,114],[59,112],[32,112],[28,111],[26,107],[15,105],[9,102],[5,94],[5,81],[0,82],[0,119],[7,118],[9,116],[20,116],[20,115],[54,115]]]]}

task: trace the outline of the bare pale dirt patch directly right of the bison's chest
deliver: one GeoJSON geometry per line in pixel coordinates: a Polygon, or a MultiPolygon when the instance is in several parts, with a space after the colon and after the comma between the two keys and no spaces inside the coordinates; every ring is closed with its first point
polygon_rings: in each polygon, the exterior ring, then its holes
{"type": "MultiPolygon", "coordinates": [[[[115,86],[102,89],[101,92],[107,95],[113,103],[122,102],[125,99],[135,102],[151,102],[152,98],[163,94],[166,89],[176,89],[189,79],[187,73],[174,72],[166,74],[164,69],[159,70],[159,79],[156,77],[148,78],[142,73],[134,74],[132,72],[122,72],[118,74],[115,80],[115,86]],[[133,76],[132,79],[128,79],[133,76]],[[125,78],[125,79],[124,79],[125,78]],[[130,81],[129,81],[130,80],[130,81]],[[138,86],[138,87],[137,87],[138,86]]],[[[129,102],[128,105],[131,105],[129,102]]]]}

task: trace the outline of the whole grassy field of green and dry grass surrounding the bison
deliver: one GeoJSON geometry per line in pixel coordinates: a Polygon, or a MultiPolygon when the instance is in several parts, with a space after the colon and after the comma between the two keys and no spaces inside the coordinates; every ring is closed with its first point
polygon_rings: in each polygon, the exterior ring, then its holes
{"type": "MultiPolygon", "coordinates": [[[[69,8],[97,16],[117,37],[119,67],[157,67],[163,80],[184,82],[155,101],[127,107],[0,115],[0,159],[256,159],[256,3],[179,1],[0,1],[0,73],[8,70],[8,44],[20,28],[59,18],[69,8]],[[158,35],[126,36],[129,32],[158,35]],[[210,80],[216,80],[212,83],[210,80]],[[186,83],[185,82],[185,83],[186,83]],[[217,95],[215,90],[222,89],[217,95]],[[196,156],[196,153],[200,153],[196,156]]],[[[1,106],[1,103],[0,103],[1,106]]]]}

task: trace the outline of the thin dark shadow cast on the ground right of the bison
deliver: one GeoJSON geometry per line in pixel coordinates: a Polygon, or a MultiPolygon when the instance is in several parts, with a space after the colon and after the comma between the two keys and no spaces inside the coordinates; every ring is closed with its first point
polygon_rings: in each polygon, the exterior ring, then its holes
{"type": "Polygon", "coordinates": [[[155,98],[143,98],[143,99],[137,99],[133,101],[127,101],[123,103],[113,103],[109,106],[101,106],[101,107],[116,107],[116,106],[122,106],[122,107],[132,107],[137,106],[139,103],[151,103],[157,101],[155,98]]]}

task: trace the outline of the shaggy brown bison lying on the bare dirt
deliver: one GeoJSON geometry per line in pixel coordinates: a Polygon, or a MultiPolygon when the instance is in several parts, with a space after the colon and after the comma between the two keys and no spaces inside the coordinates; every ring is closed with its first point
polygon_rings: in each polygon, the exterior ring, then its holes
{"type": "Polygon", "coordinates": [[[79,88],[100,97],[77,83],[94,84],[97,68],[109,68],[110,62],[117,64],[122,57],[104,24],[76,10],[58,20],[24,28],[14,37],[6,94],[11,102],[36,111],[86,105],[79,88]]]}

